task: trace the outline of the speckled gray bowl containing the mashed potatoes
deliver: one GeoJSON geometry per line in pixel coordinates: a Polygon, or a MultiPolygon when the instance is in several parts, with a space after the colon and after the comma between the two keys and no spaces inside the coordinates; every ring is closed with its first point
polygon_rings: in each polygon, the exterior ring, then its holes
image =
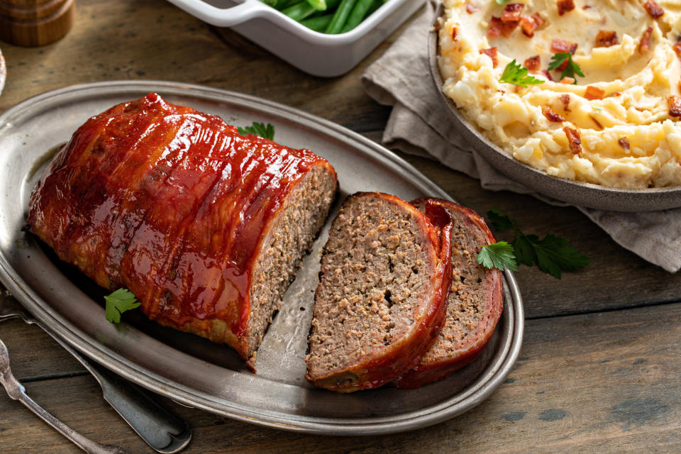
{"type": "MultiPolygon", "coordinates": [[[[443,6],[438,6],[436,18],[443,15],[443,6]]],[[[482,157],[499,172],[540,194],[568,204],[587,206],[589,208],[612,211],[656,211],[681,206],[681,187],[665,187],[650,189],[619,189],[600,186],[598,184],[575,182],[571,179],[551,177],[546,173],[530,167],[504,152],[497,145],[485,138],[461,114],[454,102],[446,96],[443,80],[438,67],[439,54],[438,32],[436,27],[428,33],[428,60],[431,74],[441,94],[447,111],[458,131],[477,150],[482,157]]]]}

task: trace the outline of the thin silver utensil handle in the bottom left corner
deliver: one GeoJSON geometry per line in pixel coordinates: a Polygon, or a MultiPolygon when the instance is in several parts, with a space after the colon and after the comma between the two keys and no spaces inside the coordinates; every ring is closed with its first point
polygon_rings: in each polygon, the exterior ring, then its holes
{"type": "Polygon", "coordinates": [[[84,450],[86,453],[92,454],[125,454],[126,451],[118,448],[117,446],[111,445],[100,445],[95,443],[89,438],[85,438],[80,433],[74,431],[72,428],[62,423],[59,419],[48,413],[42,406],[36,404],[31,397],[26,394],[26,388],[23,387],[9,368],[9,352],[4,342],[0,340],[0,384],[5,387],[7,394],[14,400],[18,400],[22,404],[26,405],[29,410],[37,414],[40,419],[50,424],[59,433],[72,441],[79,448],[84,450]]]}

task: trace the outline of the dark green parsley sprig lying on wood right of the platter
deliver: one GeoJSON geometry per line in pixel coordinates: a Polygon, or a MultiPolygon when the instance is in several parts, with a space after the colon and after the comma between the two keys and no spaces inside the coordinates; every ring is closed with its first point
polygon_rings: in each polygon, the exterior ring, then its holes
{"type": "MultiPolygon", "coordinates": [[[[549,234],[540,240],[536,235],[525,235],[518,228],[516,221],[498,208],[487,211],[487,218],[498,231],[509,228],[514,230],[516,236],[511,241],[511,246],[519,264],[526,266],[536,264],[539,270],[560,279],[561,270],[579,270],[591,260],[567,244],[567,240],[560,236],[549,234]]],[[[480,256],[478,261],[480,262],[480,256]]]]}

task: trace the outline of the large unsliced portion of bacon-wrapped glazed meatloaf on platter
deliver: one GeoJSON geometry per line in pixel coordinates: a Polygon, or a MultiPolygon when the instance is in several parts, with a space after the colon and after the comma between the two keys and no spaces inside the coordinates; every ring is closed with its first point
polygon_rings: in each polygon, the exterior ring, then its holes
{"type": "Polygon", "coordinates": [[[336,187],[309,150],[149,94],[74,133],[35,187],[28,224],[102,287],[130,289],[150,319],[248,358],[336,187]]]}

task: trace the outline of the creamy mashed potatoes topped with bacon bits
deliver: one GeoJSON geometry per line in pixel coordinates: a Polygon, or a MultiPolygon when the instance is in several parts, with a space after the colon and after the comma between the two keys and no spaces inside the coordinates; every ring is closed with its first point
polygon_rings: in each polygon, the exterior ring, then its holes
{"type": "Polygon", "coordinates": [[[681,1],[514,3],[444,0],[438,62],[445,94],[465,116],[548,175],[610,187],[680,185],[681,1]],[[549,62],[575,44],[585,77],[561,82],[549,62]],[[511,60],[543,83],[499,82],[511,60]]]}

